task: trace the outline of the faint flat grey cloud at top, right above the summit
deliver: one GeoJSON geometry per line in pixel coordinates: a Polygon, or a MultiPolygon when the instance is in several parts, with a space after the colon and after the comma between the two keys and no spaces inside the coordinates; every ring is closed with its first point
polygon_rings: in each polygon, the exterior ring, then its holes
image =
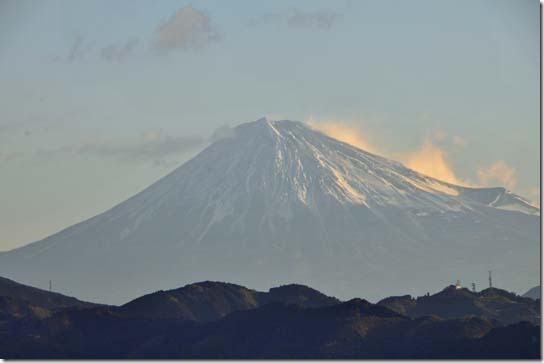
{"type": "Polygon", "coordinates": [[[249,24],[252,26],[266,24],[285,24],[289,28],[329,30],[342,14],[332,9],[320,9],[314,11],[291,8],[282,12],[267,13],[251,18],[249,24]]]}

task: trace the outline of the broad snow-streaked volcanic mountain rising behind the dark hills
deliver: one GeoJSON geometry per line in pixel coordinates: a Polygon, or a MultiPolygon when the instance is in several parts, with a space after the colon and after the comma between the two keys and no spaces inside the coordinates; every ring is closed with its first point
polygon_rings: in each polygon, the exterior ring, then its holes
{"type": "Polygon", "coordinates": [[[347,299],[540,280],[540,210],[425,176],[294,121],[231,129],[112,209],[0,253],[0,275],[103,303],[195,281],[347,299]]]}

